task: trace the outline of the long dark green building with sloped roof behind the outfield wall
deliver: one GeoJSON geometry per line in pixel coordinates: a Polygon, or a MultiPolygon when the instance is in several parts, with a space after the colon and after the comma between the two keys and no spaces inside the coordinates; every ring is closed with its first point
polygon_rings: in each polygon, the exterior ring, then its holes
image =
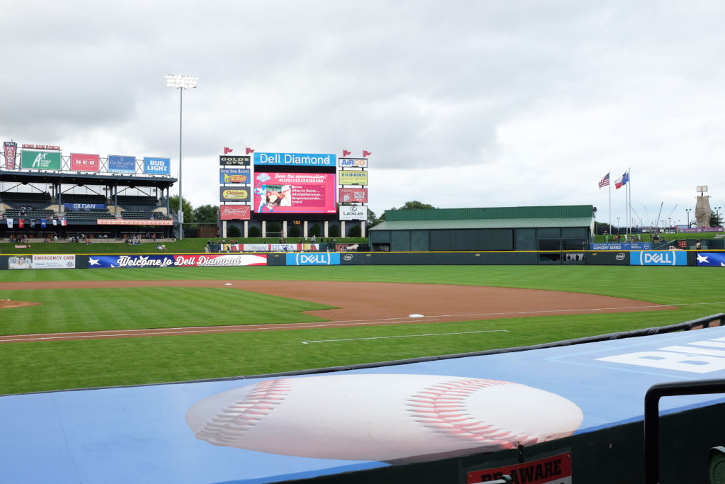
{"type": "Polygon", "coordinates": [[[559,263],[560,251],[583,253],[593,231],[592,205],[554,205],[387,210],[369,234],[373,251],[546,251],[559,263]]]}

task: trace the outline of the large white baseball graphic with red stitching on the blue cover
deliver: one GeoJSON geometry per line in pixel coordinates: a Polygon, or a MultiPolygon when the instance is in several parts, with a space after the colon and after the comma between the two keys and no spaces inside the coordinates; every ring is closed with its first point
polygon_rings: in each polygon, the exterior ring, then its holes
{"type": "Polygon", "coordinates": [[[265,380],[186,413],[215,446],[368,461],[530,445],[571,435],[582,419],[576,404],[534,387],[419,374],[265,380]]]}

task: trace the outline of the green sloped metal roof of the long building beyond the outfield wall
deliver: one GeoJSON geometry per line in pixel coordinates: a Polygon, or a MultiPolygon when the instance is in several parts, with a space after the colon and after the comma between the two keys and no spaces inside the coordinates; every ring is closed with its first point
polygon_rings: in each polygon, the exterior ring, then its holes
{"type": "Polygon", "coordinates": [[[370,230],[589,227],[593,221],[592,205],[387,210],[370,230]]]}

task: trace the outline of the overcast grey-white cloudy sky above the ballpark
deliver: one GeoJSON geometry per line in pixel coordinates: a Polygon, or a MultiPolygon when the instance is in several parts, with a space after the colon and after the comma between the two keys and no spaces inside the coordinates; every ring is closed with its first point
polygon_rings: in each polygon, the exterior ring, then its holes
{"type": "MultiPolygon", "coordinates": [[[[725,205],[721,1],[0,0],[0,141],[172,158],[218,204],[218,156],[369,160],[370,208],[595,205],[686,223],[725,205]],[[660,206],[661,212],[660,212],[660,206]],[[694,213],[694,210],[693,210],[694,213]],[[691,216],[692,219],[692,216],[691,216]]],[[[723,210],[721,210],[721,214],[723,210]]]]}

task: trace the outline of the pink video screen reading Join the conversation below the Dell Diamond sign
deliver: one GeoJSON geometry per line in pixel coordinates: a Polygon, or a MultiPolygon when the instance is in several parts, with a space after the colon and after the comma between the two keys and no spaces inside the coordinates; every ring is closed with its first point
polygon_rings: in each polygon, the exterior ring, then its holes
{"type": "Polygon", "coordinates": [[[257,213],[337,213],[335,178],[334,173],[259,173],[254,208],[257,213]]]}

